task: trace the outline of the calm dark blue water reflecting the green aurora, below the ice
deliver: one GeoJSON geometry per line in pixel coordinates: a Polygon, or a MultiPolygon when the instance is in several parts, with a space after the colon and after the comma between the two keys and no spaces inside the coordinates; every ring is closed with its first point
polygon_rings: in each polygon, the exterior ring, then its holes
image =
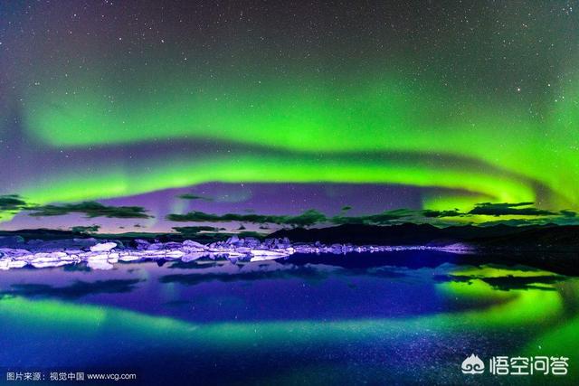
{"type": "Polygon", "coordinates": [[[579,279],[481,261],[415,251],[0,272],[0,380],[576,384],[579,279]],[[569,374],[465,375],[470,353],[487,367],[499,355],[565,356],[569,374]]]}

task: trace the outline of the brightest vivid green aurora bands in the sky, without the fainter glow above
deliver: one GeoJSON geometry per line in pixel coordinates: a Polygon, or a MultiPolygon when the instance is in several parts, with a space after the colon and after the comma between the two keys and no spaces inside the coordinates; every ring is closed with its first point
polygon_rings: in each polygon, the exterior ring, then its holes
{"type": "Polygon", "coordinates": [[[109,108],[89,91],[59,98],[56,105],[43,102],[47,95],[41,93],[26,122],[33,135],[48,146],[106,146],[186,137],[267,144],[290,152],[207,154],[196,155],[195,160],[186,155],[166,155],[162,162],[152,158],[148,165],[110,165],[109,170],[86,176],[72,167],[52,174],[50,184],[43,182],[42,189],[32,181],[21,189],[25,197],[43,203],[126,196],[211,181],[384,183],[475,193],[467,198],[425,198],[428,209],[464,208],[483,198],[578,207],[579,153],[565,148],[579,141],[579,130],[569,128],[579,122],[565,108],[555,109],[557,115],[544,123],[552,127],[551,132],[565,136],[534,136],[539,122],[523,120],[516,111],[501,116],[491,113],[493,108],[489,107],[486,115],[449,121],[440,112],[433,114],[436,103],[432,100],[441,99],[440,95],[417,95],[401,88],[403,81],[373,83],[373,87],[346,89],[334,99],[337,91],[323,86],[312,86],[318,91],[306,95],[298,90],[288,92],[287,88],[282,94],[275,89],[245,89],[242,93],[241,88],[233,88],[236,97],[224,101],[216,97],[221,93],[217,90],[200,98],[171,89],[166,90],[170,100],[139,100],[130,95],[109,108]],[[564,127],[556,128],[555,123],[564,127]],[[501,142],[497,143],[492,133],[500,133],[501,142]],[[546,145],[546,141],[551,144],[546,145]],[[383,161],[356,154],[332,158],[350,152],[401,151],[473,158],[493,165],[495,172],[508,173],[489,173],[460,164],[429,167],[412,159],[383,161]],[[537,197],[537,184],[549,191],[543,201],[537,197]]]}

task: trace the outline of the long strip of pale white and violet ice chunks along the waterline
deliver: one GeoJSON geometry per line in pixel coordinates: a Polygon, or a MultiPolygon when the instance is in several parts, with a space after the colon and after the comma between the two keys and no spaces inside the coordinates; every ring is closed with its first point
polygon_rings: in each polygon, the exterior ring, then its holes
{"type": "MultiPolygon", "coordinates": [[[[153,242],[135,240],[136,247],[127,248],[120,241],[99,243],[95,239],[84,240],[5,240],[0,248],[0,270],[23,268],[60,267],[66,264],[84,262],[92,269],[112,269],[119,261],[180,259],[183,262],[196,259],[228,259],[233,264],[238,261],[263,261],[282,259],[294,253],[334,253],[384,252],[396,250],[443,250],[452,253],[470,253],[473,249],[466,244],[447,246],[375,246],[351,244],[325,245],[315,243],[294,243],[288,239],[254,238],[240,239],[237,236],[226,241],[201,244],[194,240],[183,242],[153,242]],[[62,247],[55,250],[55,247],[62,247]],[[114,250],[113,250],[114,249],[114,250]]],[[[1,245],[1,244],[0,244],[1,245]]]]}

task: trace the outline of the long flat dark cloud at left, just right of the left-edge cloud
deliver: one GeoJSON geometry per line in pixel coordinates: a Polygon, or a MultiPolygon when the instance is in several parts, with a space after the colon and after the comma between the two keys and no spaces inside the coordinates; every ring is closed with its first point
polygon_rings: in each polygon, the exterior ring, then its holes
{"type": "Polygon", "coordinates": [[[106,206],[100,202],[66,203],[62,205],[43,205],[25,208],[33,211],[33,217],[62,216],[70,213],[83,213],[88,218],[108,217],[116,219],[148,219],[146,210],[140,206],[106,206]]]}

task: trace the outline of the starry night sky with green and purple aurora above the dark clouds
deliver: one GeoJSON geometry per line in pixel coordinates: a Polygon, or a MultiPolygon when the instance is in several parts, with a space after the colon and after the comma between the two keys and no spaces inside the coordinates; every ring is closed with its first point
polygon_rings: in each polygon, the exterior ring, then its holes
{"type": "Polygon", "coordinates": [[[148,3],[0,3],[0,229],[575,221],[579,2],[148,3]]]}

